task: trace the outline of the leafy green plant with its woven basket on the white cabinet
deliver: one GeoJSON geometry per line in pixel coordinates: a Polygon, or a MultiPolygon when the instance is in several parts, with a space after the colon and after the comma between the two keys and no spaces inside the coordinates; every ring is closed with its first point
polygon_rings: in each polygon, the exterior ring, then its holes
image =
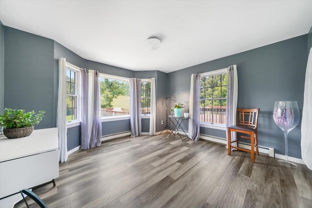
{"type": "Polygon", "coordinates": [[[34,125],[42,120],[44,113],[5,108],[3,115],[0,115],[0,126],[4,127],[3,134],[9,139],[29,136],[34,131],[34,125]]]}

